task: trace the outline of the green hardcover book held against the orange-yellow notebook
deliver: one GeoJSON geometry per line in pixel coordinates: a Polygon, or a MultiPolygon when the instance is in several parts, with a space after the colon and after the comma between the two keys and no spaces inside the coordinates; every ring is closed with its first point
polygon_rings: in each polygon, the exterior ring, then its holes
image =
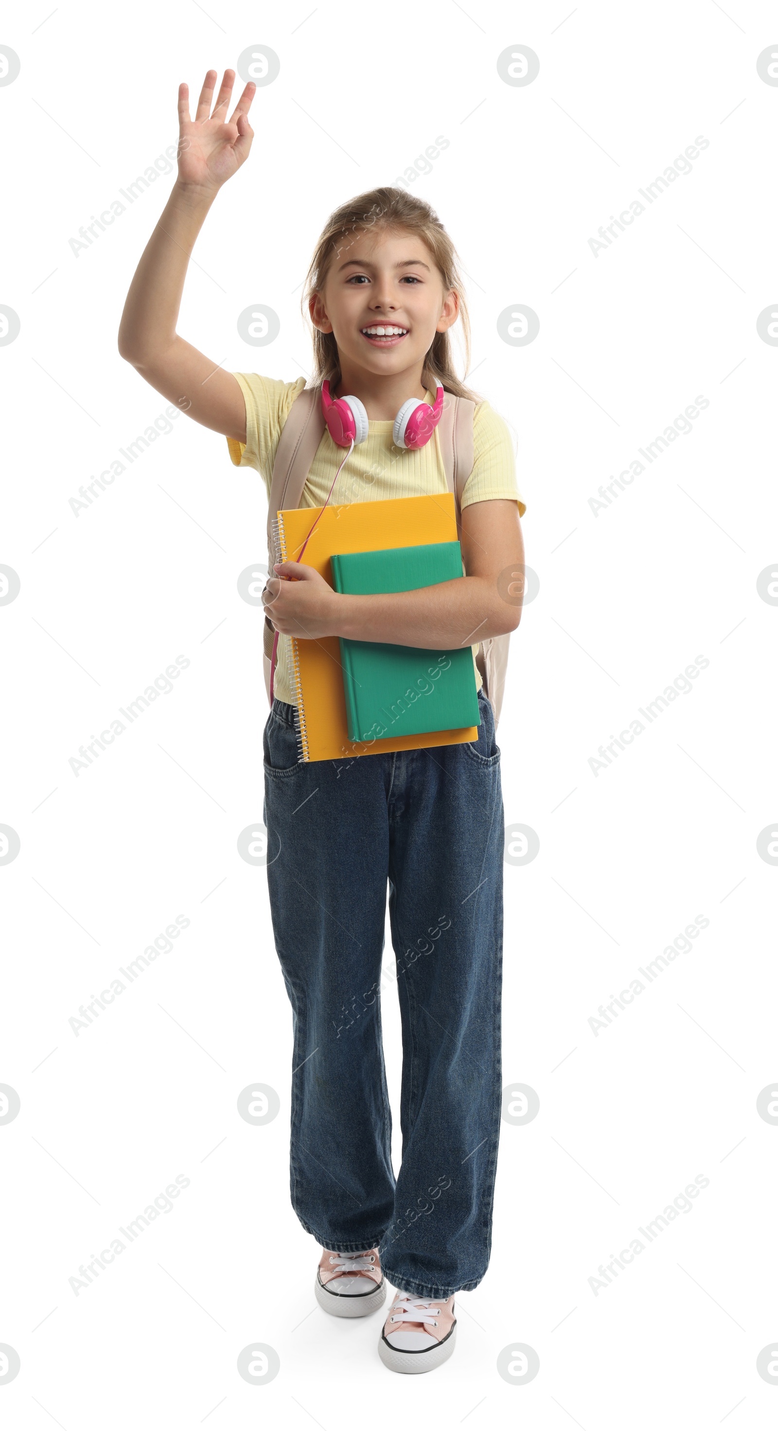
{"type": "MultiPolygon", "coordinates": [[[[458,541],[332,557],[335,590],[418,591],[462,577],[458,541]]],[[[349,740],[481,726],[472,647],[452,651],[340,637],[349,740]],[[380,730],[383,727],[383,730],[380,730]]]]}

